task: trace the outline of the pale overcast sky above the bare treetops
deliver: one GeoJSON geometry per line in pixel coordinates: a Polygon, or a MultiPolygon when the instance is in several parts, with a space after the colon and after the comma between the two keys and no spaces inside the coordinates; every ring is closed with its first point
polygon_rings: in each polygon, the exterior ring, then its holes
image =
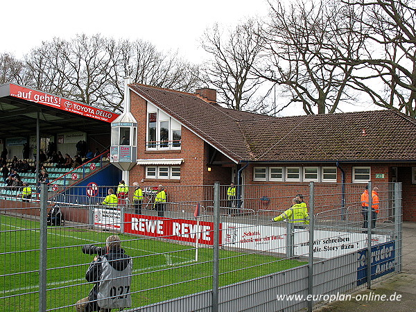
{"type": "Polygon", "coordinates": [[[200,61],[199,38],[215,22],[235,26],[265,16],[265,0],[22,0],[1,3],[0,53],[21,58],[42,41],[101,33],[115,39],[146,40],[160,51],[178,50],[200,61]]]}

